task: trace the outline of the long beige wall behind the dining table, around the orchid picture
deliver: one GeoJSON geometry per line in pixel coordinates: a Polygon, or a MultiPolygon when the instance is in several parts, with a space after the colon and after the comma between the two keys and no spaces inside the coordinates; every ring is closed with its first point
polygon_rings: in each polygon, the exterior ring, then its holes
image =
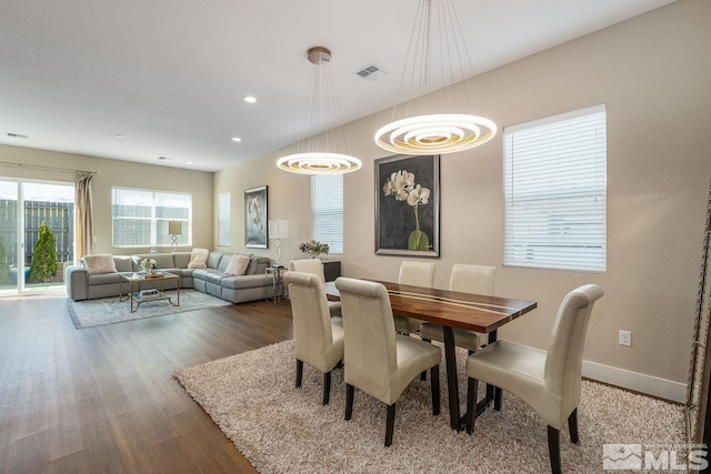
{"type": "MultiPolygon", "coordinates": [[[[711,2],[680,0],[480,77],[484,101],[471,112],[499,127],[607,104],[608,271],[502,268],[499,135],[441,159],[435,286],[447,286],[453,263],[495,265],[498,294],[539,302],[500,336],[547,347],[562,296],[599,283],[605,295],[590,324],[585,360],[685,383],[711,178],[710,24],[711,2]],[[632,331],[632,347],[618,345],[621,329],[632,331]]],[[[383,111],[347,127],[353,153],[364,163],[346,177],[342,269],[349,276],[397,280],[402,260],[373,253],[373,160],[388,153],[372,135],[389,117],[383,111]]],[[[282,244],[288,260],[310,238],[310,183],[277,170],[279,155],[216,173],[214,199],[232,191],[232,243],[242,250],[242,192],[268,184],[270,219],[291,223],[292,238],[282,244]]],[[[254,253],[273,256],[273,244],[254,253]]]]}

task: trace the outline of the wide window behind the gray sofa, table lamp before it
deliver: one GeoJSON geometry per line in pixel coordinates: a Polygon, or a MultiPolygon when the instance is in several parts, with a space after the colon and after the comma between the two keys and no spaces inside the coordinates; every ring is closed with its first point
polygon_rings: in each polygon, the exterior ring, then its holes
{"type": "Polygon", "coordinates": [[[113,246],[169,246],[169,221],[181,221],[178,245],[192,244],[192,195],[164,191],[111,189],[113,246]]]}

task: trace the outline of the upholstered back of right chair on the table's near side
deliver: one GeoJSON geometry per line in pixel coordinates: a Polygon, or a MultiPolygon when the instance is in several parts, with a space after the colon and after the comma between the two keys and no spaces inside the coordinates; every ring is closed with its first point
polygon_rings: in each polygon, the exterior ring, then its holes
{"type": "Polygon", "coordinates": [[[391,380],[398,354],[388,291],[380,283],[346,278],[336,285],[343,311],[346,383],[390,405],[407,384],[400,389],[391,380]]]}

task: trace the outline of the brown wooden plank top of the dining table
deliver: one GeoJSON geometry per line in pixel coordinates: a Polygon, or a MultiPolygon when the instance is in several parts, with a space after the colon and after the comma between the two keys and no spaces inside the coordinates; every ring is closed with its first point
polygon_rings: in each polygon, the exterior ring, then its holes
{"type": "MultiPolygon", "coordinates": [[[[437,324],[490,333],[503,324],[534,310],[533,301],[513,300],[481,294],[460,293],[424,286],[382,282],[390,295],[392,312],[437,324]]],[[[326,292],[339,297],[333,282],[326,283],[326,292]]]]}

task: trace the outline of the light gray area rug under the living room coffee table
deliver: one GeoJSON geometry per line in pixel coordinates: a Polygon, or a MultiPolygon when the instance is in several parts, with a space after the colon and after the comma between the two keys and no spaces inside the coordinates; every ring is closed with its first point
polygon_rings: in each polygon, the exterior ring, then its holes
{"type": "MultiPolygon", "coordinates": [[[[173,302],[176,301],[176,291],[167,291],[166,293],[172,297],[173,302]]],[[[232,303],[229,301],[197,290],[180,290],[180,306],[173,306],[167,300],[147,301],[141,303],[134,313],[131,313],[131,303],[129,301],[119,302],[118,296],[86,301],[67,299],[69,315],[78,330],[230,304],[232,303]]]]}

